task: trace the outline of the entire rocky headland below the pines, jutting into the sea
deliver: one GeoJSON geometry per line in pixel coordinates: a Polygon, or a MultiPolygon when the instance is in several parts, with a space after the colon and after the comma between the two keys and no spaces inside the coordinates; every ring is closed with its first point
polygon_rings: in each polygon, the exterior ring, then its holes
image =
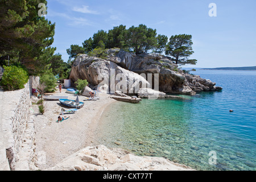
{"type": "Polygon", "coordinates": [[[147,87],[155,90],[159,89],[160,92],[165,93],[192,95],[196,92],[222,89],[215,86],[216,83],[210,80],[183,73],[177,68],[176,64],[172,63],[168,56],[154,53],[135,55],[122,49],[108,49],[106,53],[108,56],[104,59],[88,55],[78,56],[73,63],[69,78],[73,82],[79,78],[86,79],[92,86],[110,85],[110,87],[113,87],[109,90],[114,89],[115,91],[116,88],[119,88],[125,94],[134,93],[133,88],[137,89],[135,93],[138,93],[138,84],[139,88],[147,87]],[[116,77],[118,73],[122,74],[122,77],[127,78],[127,80],[121,81],[122,78],[116,77]],[[115,78],[113,78],[113,75],[115,78]]]}

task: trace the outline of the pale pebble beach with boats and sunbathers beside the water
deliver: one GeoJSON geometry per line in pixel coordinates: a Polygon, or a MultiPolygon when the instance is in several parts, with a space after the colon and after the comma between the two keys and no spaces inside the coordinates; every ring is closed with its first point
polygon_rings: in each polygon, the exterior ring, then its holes
{"type": "MultiPolygon", "coordinates": [[[[73,94],[65,93],[65,89],[51,93],[55,96],[68,96],[76,100],[73,94]]],[[[85,96],[79,96],[79,100],[85,102],[84,106],[76,113],[65,113],[69,117],[63,122],[57,123],[61,108],[68,110],[59,101],[44,101],[45,113],[39,114],[38,105],[32,105],[35,117],[36,152],[46,156],[46,161],[38,165],[39,169],[55,166],[69,155],[86,146],[93,146],[94,131],[104,109],[113,102],[109,94],[100,93],[99,100],[85,101],[85,96]]]]}

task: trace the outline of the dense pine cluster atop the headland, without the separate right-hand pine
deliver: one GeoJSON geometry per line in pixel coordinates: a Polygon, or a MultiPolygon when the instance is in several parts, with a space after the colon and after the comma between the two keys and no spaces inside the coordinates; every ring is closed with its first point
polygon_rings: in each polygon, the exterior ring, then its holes
{"type": "MultiPolygon", "coordinates": [[[[131,26],[128,29],[121,24],[120,26],[113,27],[113,29],[108,32],[99,30],[97,33],[93,34],[92,38],[85,40],[82,46],[84,53],[89,53],[95,48],[102,47],[117,47],[137,54],[148,53],[148,51],[154,52],[154,49],[158,53],[162,53],[166,43],[163,46],[160,37],[160,35],[157,36],[155,29],[148,28],[144,24],[140,24],[138,27],[131,26]]],[[[75,48],[73,49],[75,51],[75,48]]],[[[71,55],[69,52],[68,54],[71,55]]]]}

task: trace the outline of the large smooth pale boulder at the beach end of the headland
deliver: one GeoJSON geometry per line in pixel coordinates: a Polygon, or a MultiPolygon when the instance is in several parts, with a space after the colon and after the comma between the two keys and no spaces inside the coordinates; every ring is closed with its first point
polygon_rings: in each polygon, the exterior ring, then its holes
{"type": "Polygon", "coordinates": [[[150,85],[147,80],[135,72],[119,67],[116,63],[99,57],[81,55],[73,63],[69,78],[72,82],[86,79],[92,86],[109,85],[109,92],[121,90],[123,93],[134,93],[134,88],[150,85]]]}

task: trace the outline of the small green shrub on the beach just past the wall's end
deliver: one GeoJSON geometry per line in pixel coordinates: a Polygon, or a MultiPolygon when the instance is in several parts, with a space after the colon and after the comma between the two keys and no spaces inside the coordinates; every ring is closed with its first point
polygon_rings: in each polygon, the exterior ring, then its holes
{"type": "Polygon", "coordinates": [[[55,92],[57,79],[51,72],[44,73],[40,77],[40,84],[46,85],[46,92],[55,92]]]}

